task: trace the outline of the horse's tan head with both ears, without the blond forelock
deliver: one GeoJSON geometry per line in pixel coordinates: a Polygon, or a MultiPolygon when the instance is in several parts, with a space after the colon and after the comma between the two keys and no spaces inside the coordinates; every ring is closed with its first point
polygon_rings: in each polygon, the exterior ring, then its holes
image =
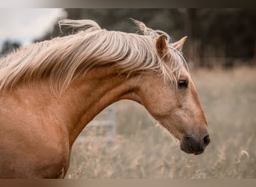
{"type": "MultiPolygon", "coordinates": [[[[167,67],[174,63],[170,48],[181,52],[186,37],[176,43],[165,41],[162,34],[156,39],[156,53],[167,67]]],[[[210,143],[207,132],[207,120],[198,97],[195,85],[183,67],[176,77],[171,79],[150,73],[141,76],[139,95],[147,111],[158,120],[168,132],[180,141],[180,149],[186,153],[201,154],[210,143]]]]}

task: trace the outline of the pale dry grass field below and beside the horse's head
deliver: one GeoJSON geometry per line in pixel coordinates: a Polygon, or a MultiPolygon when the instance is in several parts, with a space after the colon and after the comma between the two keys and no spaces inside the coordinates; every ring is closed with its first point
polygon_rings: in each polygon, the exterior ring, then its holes
{"type": "Polygon", "coordinates": [[[210,126],[203,154],[183,153],[141,105],[124,100],[115,103],[112,142],[74,144],[66,178],[256,178],[256,68],[191,74],[210,126]]]}

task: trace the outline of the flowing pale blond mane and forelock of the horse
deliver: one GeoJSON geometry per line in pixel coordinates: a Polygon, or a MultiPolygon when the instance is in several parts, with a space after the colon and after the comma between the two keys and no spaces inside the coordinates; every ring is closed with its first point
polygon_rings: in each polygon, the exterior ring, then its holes
{"type": "Polygon", "coordinates": [[[49,79],[52,91],[63,91],[82,73],[92,67],[112,64],[120,73],[156,71],[165,79],[177,83],[186,61],[171,46],[171,37],[163,31],[147,28],[133,20],[142,34],[107,31],[92,20],[61,19],[59,26],[84,28],[77,34],[56,37],[25,46],[0,59],[0,90],[20,83],[49,79]],[[172,65],[168,67],[156,55],[156,38],[165,34],[172,65]]]}

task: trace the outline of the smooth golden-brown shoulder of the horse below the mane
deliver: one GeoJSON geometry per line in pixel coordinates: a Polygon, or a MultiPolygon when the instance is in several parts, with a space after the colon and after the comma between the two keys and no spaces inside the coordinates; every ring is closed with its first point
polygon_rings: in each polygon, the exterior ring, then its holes
{"type": "Polygon", "coordinates": [[[0,106],[0,177],[64,177],[70,144],[61,122],[7,101],[0,106]]]}

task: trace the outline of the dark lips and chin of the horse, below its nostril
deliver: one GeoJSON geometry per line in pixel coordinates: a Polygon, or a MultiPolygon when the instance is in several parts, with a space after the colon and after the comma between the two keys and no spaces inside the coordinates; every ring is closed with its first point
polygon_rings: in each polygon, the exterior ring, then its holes
{"type": "Polygon", "coordinates": [[[180,150],[183,150],[185,153],[200,155],[204,153],[205,150],[204,145],[200,144],[194,138],[184,137],[183,141],[180,143],[180,150]]]}

